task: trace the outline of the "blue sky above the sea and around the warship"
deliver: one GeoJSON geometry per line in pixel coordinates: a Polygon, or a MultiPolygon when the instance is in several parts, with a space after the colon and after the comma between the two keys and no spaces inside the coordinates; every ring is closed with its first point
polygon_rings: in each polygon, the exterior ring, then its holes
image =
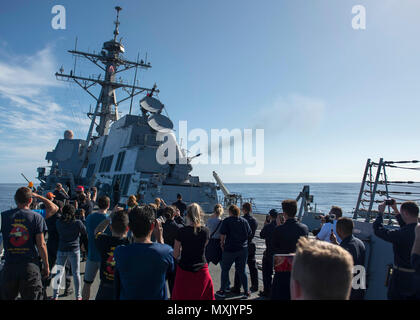
{"type": "Polygon", "coordinates": [[[86,137],[93,100],[53,74],[72,67],[76,36],[83,51],[111,39],[115,5],[126,57],[147,52],[140,81],[158,84],[174,122],[265,130],[263,174],[197,165],[202,180],[359,182],[368,157],[419,158],[419,1],[20,0],[0,8],[0,182],[33,179],[65,129],[86,137]],[[55,4],[66,30],[51,27],[55,4]],[[359,4],[367,26],[356,31],[359,4]]]}

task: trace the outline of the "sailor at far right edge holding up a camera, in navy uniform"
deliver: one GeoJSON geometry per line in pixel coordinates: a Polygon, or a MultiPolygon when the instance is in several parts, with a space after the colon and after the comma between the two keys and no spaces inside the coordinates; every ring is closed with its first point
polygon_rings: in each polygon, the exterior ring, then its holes
{"type": "Polygon", "coordinates": [[[415,202],[407,201],[401,204],[401,211],[398,211],[395,200],[391,199],[388,201],[390,201],[388,205],[393,209],[400,228],[391,230],[383,225],[383,213],[387,206],[387,201],[382,202],[378,206],[379,213],[373,223],[375,235],[392,243],[394,250],[394,266],[388,286],[388,299],[419,299],[418,279],[410,261],[419,207],[415,202]]]}

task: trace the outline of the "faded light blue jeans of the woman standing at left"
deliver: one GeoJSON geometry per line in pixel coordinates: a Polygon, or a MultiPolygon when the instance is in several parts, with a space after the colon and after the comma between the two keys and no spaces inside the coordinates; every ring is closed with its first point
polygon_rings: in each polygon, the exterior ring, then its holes
{"type": "Polygon", "coordinates": [[[80,250],[77,251],[58,251],[57,252],[57,274],[53,279],[53,297],[58,298],[58,289],[61,285],[61,280],[65,274],[64,266],[70,260],[71,272],[74,280],[74,295],[76,299],[82,297],[80,290],[80,250]]]}

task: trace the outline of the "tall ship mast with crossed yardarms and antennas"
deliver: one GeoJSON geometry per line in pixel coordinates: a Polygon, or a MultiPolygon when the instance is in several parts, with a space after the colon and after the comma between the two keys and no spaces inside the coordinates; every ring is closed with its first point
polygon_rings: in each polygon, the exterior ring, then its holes
{"type": "MultiPolygon", "coordinates": [[[[142,68],[149,69],[151,68],[150,63],[147,61],[137,60],[136,62],[125,60],[122,56],[125,49],[120,41],[117,40],[119,35],[119,14],[122,10],[121,7],[115,7],[117,11],[117,19],[114,21],[114,38],[113,40],[104,42],[103,48],[100,54],[82,52],[75,50],[69,50],[71,54],[75,57],[86,58],[98,68],[104,71],[104,78],[99,76],[77,76],[74,72],[74,69],[70,71],[70,74],[65,74],[63,68],[59,72],[56,72],[55,75],[58,80],[62,81],[73,81],[78,84],[83,90],[85,90],[93,99],[96,100],[96,107],[93,113],[89,112],[87,115],[91,119],[88,135],[86,138],[86,146],[89,146],[89,143],[92,140],[93,128],[96,125],[97,137],[108,135],[109,127],[111,122],[118,120],[118,105],[128,99],[133,99],[134,96],[140,93],[150,93],[153,89],[143,88],[136,86],[135,83],[132,85],[128,82],[122,80],[116,81],[117,73],[127,71],[132,68],[142,68]],[[91,88],[95,85],[101,86],[101,91],[98,96],[95,96],[91,88]],[[127,96],[123,97],[121,100],[117,100],[115,91],[116,89],[122,88],[127,96]],[[99,118],[99,123],[96,123],[97,118],[99,118]]],[[[154,92],[159,92],[159,90],[154,90],[154,92]]],[[[83,159],[86,159],[87,147],[84,150],[83,159]]]]}

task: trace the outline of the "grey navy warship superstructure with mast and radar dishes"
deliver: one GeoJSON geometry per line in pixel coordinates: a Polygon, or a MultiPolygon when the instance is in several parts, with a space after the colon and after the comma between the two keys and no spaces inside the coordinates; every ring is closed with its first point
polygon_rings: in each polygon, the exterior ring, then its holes
{"type": "Polygon", "coordinates": [[[37,169],[40,187],[51,191],[57,183],[67,185],[70,190],[77,185],[95,186],[99,194],[109,196],[117,189],[121,203],[131,194],[137,195],[142,203],[152,202],[156,197],[171,203],[180,193],[184,201],[200,203],[205,212],[211,212],[218,203],[217,186],[190,174],[191,160],[199,155],[188,157],[177,144],[173,123],[162,114],[165,106],[157,99],[156,84],[145,88],[136,80],[138,70],[150,69],[151,64],[147,57],[140,61],[138,57],[136,61],[124,58],[125,48],[121,39],[117,39],[121,7],[115,9],[113,39],[103,43],[100,53],[76,48],[68,51],[75,59],[95,64],[102,75],[76,75],[76,63],[69,73],[64,73],[61,67],[55,74],[58,80],[80,86],[96,101],[96,107],[87,114],[90,127],[86,139],[75,139],[73,132],[66,130],[55,149],[47,153],[45,159],[51,165],[37,169]],[[117,74],[128,70],[135,70],[132,83],[117,79],[117,74]],[[100,87],[99,94],[93,92],[95,87],[100,87]],[[125,94],[120,100],[116,95],[119,89],[125,94]],[[137,96],[142,96],[139,115],[132,114],[133,99],[137,96]],[[130,110],[120,117],[118,106],[123,101],[130,101],[130,110]],[[157,139],[161,133],[166,133],[165,141],[157,139]],[[168,141],[176,149],[176,161],[162,164],[157,159],[157,150],[168,141]]]}

